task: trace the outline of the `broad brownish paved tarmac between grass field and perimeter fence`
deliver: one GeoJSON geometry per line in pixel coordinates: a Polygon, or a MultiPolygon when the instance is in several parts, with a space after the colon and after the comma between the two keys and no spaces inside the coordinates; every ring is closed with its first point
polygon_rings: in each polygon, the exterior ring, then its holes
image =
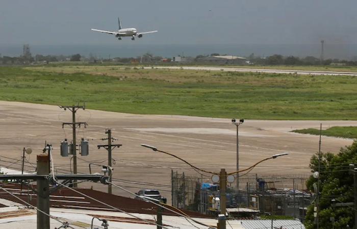
{"type": "MultiPolygon", "coordinates": [[[[72,104],[61,104],[72,105],[72,104]]],[[[235,117],[237,120],[239,117],[235,117]]],[[[68,173],[70,157],[60,156],[60,141],[72,138],[72,129],[62,122],[71,122],[72,113],[58,106],[21,102],[0,101],[0,166],[21,169],[23,148],[31,147],[33,153],[25,155],[25,170],[34,171],[36,155],[41,154],[45,142],[52,144],[55,171],[68,173]],[[16,160],[11,160],[13,158],[16,160]]],[[[78,154],[79,173],[89,173],[89,162],[106,164],[108,153],[97,149],[106,145],[107,128],[117,138],[113,144],[122,147],[113,149],[113,178],[115,183],[132,192],[140,188],[157,188],[170,201],[171,169],[185,175],[201,176],[189,165],[174,157],[141,147],[147,144],[159,150],[179,156],[193,165],[219,172],[236,170],[236,126],[231,119],[199,118],[166,115],[133,115],[99,110],[79,109],[77,122],[88,122],[87,128],[77,129],[77,141],[89,140],[89,156],[78,154]],[[120,179],[120,181],[118,180],[120,179]]],[[[276,175],[280,177],[308,177],[309,162],[318,152],[319,136],[289,133],[294,129],[332,126],[357,126],[357,121],[272,121],[245,120],[239,126],[240,169],[274,154],[288,152],[289,155],[259,164],[250,173],[240,178],[244,188],[247,179],[276,175]]],[[[341,147],[352,144],[352,139],[322,137],[321,151],[338,153],[341,147]]],[[[71,161],[72,163],[73,161],[71,161]]],[[[101,173],[101,167],[92,166],[92,173],[101,173]]],[[[203,174],[204,180],[211,175],[203,174]]],[[[284,184],[281,184],[284,186],[284,184]]],[[[299,184],[301,188],[303,184],[299,184]]],[[[79,187],[93,187],[106,191],[107,187],[97,183],[82,183],[79,187]]],[[[113,188],[114,194],[132,195],[113,188]]]]}

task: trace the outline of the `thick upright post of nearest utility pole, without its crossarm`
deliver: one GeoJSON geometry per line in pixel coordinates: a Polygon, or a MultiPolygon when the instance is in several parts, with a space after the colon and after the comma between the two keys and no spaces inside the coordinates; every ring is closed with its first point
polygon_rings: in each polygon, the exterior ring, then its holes
{"type": "MultiPolygon", "coordinates": [[[[37,175],[48,175],[48,155],[37,155],[37,175]]],[[[49,215],[49,185],[47,180],[37,180],[37,208],[49,215]]],[[[49,229],[49,216],[37,211],[37,229],[49,229]]]]}

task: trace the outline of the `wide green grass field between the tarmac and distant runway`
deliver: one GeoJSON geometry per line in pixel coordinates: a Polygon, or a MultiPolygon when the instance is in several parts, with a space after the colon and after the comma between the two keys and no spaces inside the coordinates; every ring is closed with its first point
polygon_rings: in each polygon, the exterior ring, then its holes
{"type": "Polygon", "coordinates": [[[357,77],[125,69],[0,67],[0,100],[142,114],[357,120],[357,77]]]}

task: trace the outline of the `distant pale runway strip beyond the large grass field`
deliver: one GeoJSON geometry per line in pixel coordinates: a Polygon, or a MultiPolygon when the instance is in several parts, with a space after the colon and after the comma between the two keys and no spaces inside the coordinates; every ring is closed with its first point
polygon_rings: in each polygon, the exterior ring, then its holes
{"type": "MultiPolygon", "coordinates": [[[[151,67],[144,67],[145,69],[151,69],[151,67]]],[[[231,71],[231,72],[264,72],[264,73],[281,73],[281,74],[303,74],[303,75],[351,75],[356,76],[357,72],[337,72],[337,71],[302,71],[302,70],[283,70],[283,69],[261,69],[261,68],[220,68],[220,67],[155,67],[165,69],[188,69],[188,70],[205,70],[205,71],[231,71]]]]}

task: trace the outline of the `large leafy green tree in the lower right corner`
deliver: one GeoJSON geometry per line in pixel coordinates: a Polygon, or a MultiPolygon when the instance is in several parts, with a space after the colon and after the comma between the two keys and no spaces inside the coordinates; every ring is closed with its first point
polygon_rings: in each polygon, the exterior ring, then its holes
{"type": "MultiPolygon", "coordinates": [[[[318,155],[314,155],[310,161],[312,172],[318,171],[318,155]]],[[[320,156],[320,197],[319,197],[319,228],[345,229],[348,224],[354,227],[354,212],[347,206],[333,207],[331,199],[337,199],[337,203],[348,203],[354,201],[353,196],[353,175],[349,174],[349,164],[357,162],[357,140],[351,146],[341,148],[340,153],[321,153],[320,156]],[[330,217],[335,217],[331,222],[330,217]]],[[[314,190],[313,184],[317,179],[310,176],[307,181],[309,190],[314,190]]],[[[354,207],[355,208],[355,207],[354,207]]],[[[305,217],[305,227],[315,228],[314,224],[314,203],[309,206],[305,217]]]]}

